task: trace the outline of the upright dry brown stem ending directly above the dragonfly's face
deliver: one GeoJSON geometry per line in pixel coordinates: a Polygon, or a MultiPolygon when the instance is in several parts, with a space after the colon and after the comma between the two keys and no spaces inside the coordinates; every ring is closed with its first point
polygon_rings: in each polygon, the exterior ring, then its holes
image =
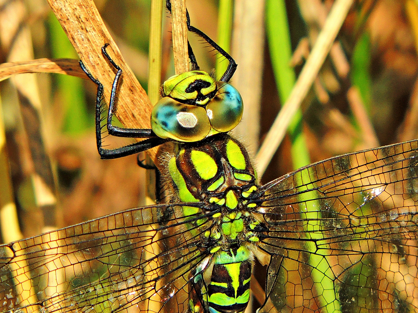
{"type": "Polygon", "coordinates": [[[186,0],[171,0],[173,25],[173,54],[176,74],[189,71],[187,48],[186,0]]]}

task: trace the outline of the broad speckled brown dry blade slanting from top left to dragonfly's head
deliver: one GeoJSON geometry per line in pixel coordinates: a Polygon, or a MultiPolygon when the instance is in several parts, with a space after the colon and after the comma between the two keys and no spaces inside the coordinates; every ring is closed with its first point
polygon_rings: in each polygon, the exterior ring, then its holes
{"type": "MultiPolygon", "coordinates": [[[[150,128],[152,104],[135,75],[125,63],[119,48],[107,30],[92,0],[48,0],[64,32],[94,78],[104,86],[104,100],[109,103],[115,69],[103,56],[101,48],[122,68],[118,87],[117,118],[125,127],[150,128]]],[[[155,157],[155,150],[148,151],[155,157]]]]}

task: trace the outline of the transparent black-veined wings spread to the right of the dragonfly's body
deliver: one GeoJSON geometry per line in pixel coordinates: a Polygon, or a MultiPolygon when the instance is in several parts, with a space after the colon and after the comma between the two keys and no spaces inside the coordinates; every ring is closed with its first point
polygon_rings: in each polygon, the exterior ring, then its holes
{"type": "Polygon", "coordinates": [[[260,312],[418,311],[418,141],[312,164],[259,197],[260,312]]]}

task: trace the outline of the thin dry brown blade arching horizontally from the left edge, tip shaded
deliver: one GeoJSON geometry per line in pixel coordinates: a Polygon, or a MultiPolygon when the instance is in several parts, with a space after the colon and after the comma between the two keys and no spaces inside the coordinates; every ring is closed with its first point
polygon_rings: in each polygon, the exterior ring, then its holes
{"type": "Polygon", "coordinates": [[[0,64],[0,81],[15,74],[23,73],[57,73],[88,79],[74,59],[36,59],[22,62],[0,64]]]}

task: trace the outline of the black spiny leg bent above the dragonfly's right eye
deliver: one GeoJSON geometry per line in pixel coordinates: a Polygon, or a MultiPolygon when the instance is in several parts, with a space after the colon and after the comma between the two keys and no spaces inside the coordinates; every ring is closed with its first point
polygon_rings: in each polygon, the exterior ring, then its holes
{"type": "MultiPolygon", "coordinates": [[[[166,7],[167,7],[167,10],[170,11],[171,13],[170,0],[166,0],[166,7]]],[[[186,10],[186,17],[187,17],[187,29],[191,31],[192,33],[195,33],[199,37],[203,38],[207,43],[209,43],[209,45],[211,45],[215,50],[217,50],[220,54],[222,54],[222,56],[224,56],[228,60],[229,64],[228,64],[227,70],[225,71],[225,73],[222,74],[222,77],[220,79],[221,81],[228,82],[232,78],[232,75],[234,75],[235,70],[237,69],[237,63],[235,63],[232,56],[230,56],[224,49],[219,47],[219,45],[217,45],[217,43],[215,43],[211,38],[209,38],[209,36],[207,36],[205,33],[197,29],[196,27],[193,27],[190,25],[190,16],[187,10],[186,10]]],[[[189,45],[189,57],[193,66],[193,64],[196,63],[196,58],[194,57],[193,51],[191,51],[190,45],[189,45]]]]}

